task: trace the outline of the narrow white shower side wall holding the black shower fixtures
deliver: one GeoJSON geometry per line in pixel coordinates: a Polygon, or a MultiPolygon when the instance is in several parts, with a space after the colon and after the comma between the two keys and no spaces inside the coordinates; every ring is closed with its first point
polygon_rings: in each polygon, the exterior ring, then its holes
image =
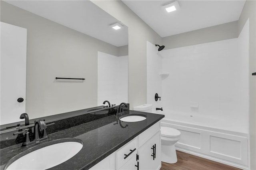
{"type": "MultiPolygon", "coordinates": [[[[162,107],[162,51],[158,51],[158,47],[147,42],[147,103],[152,104],[152,113],[158,113],[156,107],[162,107]],[[155,94],[161,97],[161,101],[155,101],[155,94]]],[[[163,109],[165,109],[163,107],[163,109]]]]}

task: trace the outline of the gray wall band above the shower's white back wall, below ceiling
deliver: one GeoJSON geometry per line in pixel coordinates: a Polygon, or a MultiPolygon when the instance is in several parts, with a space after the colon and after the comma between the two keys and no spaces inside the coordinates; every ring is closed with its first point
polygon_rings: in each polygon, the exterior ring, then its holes
{"type": "Polygon", "coordinates": [[[215,42],[238,37],[238,22],[228,22],[163,38],[165,49],[215,42]]]}

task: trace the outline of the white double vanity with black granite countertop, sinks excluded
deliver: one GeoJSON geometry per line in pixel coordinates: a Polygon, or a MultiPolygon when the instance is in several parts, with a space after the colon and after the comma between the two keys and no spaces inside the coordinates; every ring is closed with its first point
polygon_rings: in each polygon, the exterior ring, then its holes
{"type": "MultiPolygon", "coordinates": [[[[97,112],[84,115],[93,118],[100,114],[97,112]]],[[[106,114],[104,110],[99,112],[106,114]]],[[[50,169],[159,169],[161,167],[159,121],[164,118],[164,115],[130,110],[124,111],[123,115],[133,114],[143,115],[146,119],[138,122],[123,122],[120,121],[120,117],[110,115],[48,134],[49,141],[75,138],[83,143],[80,152],[50,169]]],[[[83,115],[67,119],[72,123],[73,119],[78,120],[76,117],[81,116],[83,115]]],[[[58,121],[55,122],[56,125],[51,127],[59,126],[58,121]]],[[[14,156],[17,158],[22,152],[40,145],[43,147],[44,144],[45,142],[22,148],[20,143],[2,148],[0,150],[1,170],[15,161],[14,156]]]]}

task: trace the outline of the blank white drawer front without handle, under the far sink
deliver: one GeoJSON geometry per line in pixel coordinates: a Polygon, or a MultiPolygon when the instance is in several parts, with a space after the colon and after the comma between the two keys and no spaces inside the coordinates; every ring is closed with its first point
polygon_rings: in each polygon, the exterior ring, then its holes
{"type": "Polygon", "coordinates": [[[139,136],[138,136],[138,140],[139,140],[139,146],[142,146],[144,143],[146,143],[146,141],[148,141],[154,134],[156,134],[156,132],[158,132],[160,130],[160,121],[155,123],[154,125],[152,125],[150,128],[148,128],[147,130],[145,130],[144,132],[142,132],[139,136]]]}

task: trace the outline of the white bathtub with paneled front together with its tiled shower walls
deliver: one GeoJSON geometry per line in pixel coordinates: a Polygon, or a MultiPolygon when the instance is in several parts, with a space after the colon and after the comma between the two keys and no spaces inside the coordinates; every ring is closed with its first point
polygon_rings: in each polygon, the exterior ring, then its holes
{"type": "Polygon", "coordinates": [[[165,115],[162,126],[180,130],[176,149],[249,169],[248,40],[247,21],[238,38],[148,54],[148,60],[155,56],[162,63],[147,63],[154,70],[148,72],[148,102],[152,91],[162,88],[164,111],[157,112],[165,115]],[[156,72],[169,75],[160,78],[156,72]]]}

